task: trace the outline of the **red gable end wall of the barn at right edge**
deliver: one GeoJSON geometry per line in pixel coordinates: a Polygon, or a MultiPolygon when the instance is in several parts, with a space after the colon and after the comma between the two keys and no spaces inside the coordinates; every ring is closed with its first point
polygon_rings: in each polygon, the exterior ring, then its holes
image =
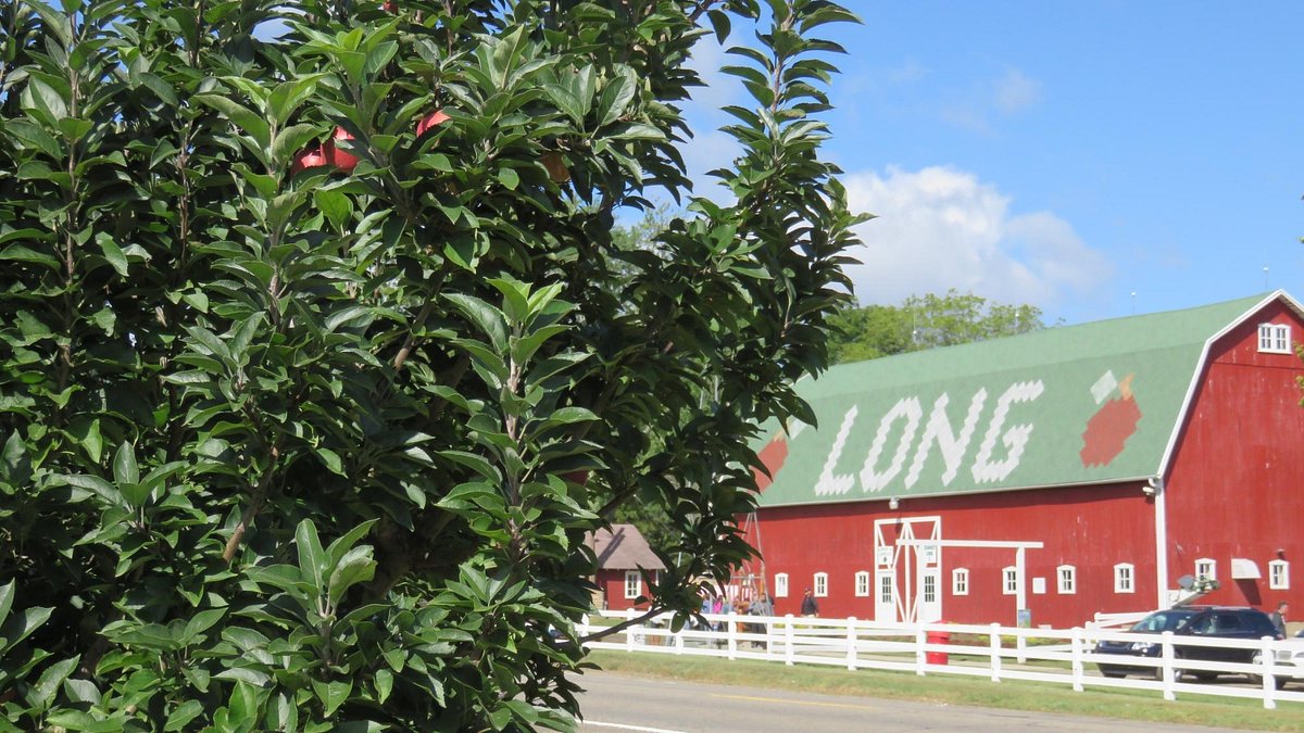
{"type": "Polygon", "coordinates": [[[1304,613],[1304,408],[1294,353],[1258,351],[1258,325],[1288,323],[1291,343],[1304,325],[1279,303],[1224,335],[1210,351],[1167,481],[1170,582],[1217,561],[1222,588],[1209,603],[1278,601],[1304,613]],[[1278,549],[1284,550],[1278,554],[1278,549]],[[1232,580],[1231,560],[1254,561],[1257,580],[1232,580]],[[1271,590],[1267,563],[1291,562],[1290,590],[1271,590]]]}

